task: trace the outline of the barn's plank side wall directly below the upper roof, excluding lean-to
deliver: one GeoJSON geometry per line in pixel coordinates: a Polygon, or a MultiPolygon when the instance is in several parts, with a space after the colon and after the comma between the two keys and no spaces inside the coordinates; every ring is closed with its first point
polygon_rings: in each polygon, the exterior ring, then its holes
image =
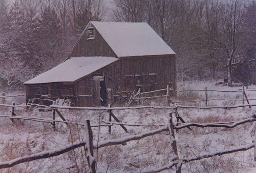
{"type": "Polygon", "coordinates": [[[152,91],[166,85],[177,88],[175,55],[120,58],[119,69],[121,91],[152,91]],[[137,85],[137,80],[142,80],[142,85],[137,85]],[[128,88],[132,83],[133,88],[128,88]]]}

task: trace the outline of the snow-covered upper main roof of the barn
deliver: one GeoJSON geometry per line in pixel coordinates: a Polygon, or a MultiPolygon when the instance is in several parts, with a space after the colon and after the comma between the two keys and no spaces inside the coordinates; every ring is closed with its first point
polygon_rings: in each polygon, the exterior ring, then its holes
{"type": "Polygon", "coordinates": [[[147,23],[91,23],[117,57],[175,54],[147,23]]]}

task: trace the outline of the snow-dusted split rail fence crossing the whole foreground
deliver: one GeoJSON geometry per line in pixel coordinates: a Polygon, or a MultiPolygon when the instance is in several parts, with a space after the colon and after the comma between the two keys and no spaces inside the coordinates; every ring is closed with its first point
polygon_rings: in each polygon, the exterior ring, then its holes
{"type": "MultiPolygon", "coordinates": [[[[205,127],[216,127],[216,128],[235,128],[238,125],[242,125],[247,122],[254,122],[252,127],[250,128],[251,131],[256,127],[256,116],[239,120],[239,121],[231,121],[231,122],[213,122],[213,123],[179,123],[179,122],[174,122],[173,121],[173,113],[169,113],[168,115],[168,121],[166,124],[158,124],[158,125],[147,125],[147,124],[130,124],[130,123],[122,123],[120,122],[116,116],[113,114],[113,110],[125,110],[125,109],[145,109],[145,108],[153,108],[153,109],[169,109],[170,111],[175,110],[175,116],[177,119],[178,108],[198,108],[198,109],[212,109],[212,108],[240,108],[240,107],[247,107],[247,106],[256,106],[253,104],[250,105],[236,105],[236,106],[213,106],[213,107],[196,107],[196,106],[183,106],[183,105],[172,105],[172,106],[139,106],[139,107],[116,107],[112,108],[111,105],[109,107],[104,107],[104,108],[92,108],[92,107],[70,107],[70,106],[58,106],[58,105],[50,105],[50,106],[44,106],[44,105],[38,105],[38,104],[32,104],[32,105],[15,105],[14,103],[12,105],[4,105],[0,104],[0,107],[9,107],[11,108],[11,115],[0,115],[0,117],[3,118],[9,118],[12,120],[14,119],[23,119],[23,120],[30,120],[30,121],[36,121],[36,122],[47,122],[51,123],[54,130],[55,130],[55,122],[61,122],[65,123],[67,126],[69,124],[75,124],[75,125],[81,125],[84,126],[84,129],[86,130],[86,137],[82,141],[79,142],[73,142],[72,144],[66,145],[65,147],[62,147],[58,150],[48,150],[48,151],[43,151],[39,153],[34,153],[31,155],[27,156],[22,156],[18,157],[16,159],[12,159],[9,161],[4,161],[0,162],[0,169],[1,168],[8,168],[8,167],[13,167],[17,164],[24,163],[24,162],[30,162],[38,159],[46,159],[49,157],[53,156],[58,156],[63,153],[67,153],[68,151],[74,150],[79,147],[84,147],[85,150],[87,150],[87,161],[88,165],[90,168],[91,173],[96,172],[96,159],[93,154],[93,150],[97,150],[102,147],[107,147],[107,146],[113,146],[113,145],[125,145],[127,142],[134,141],[134,140],[139,140],[143,139],[147,136],[151,135],[156,135],[159,133],[163,132],[168,132],[170,136],[170,146],[171,149],[173,150],[174,157],[172,157],[172,161],[169,164],[166,164],[165,166],[162,167],[157,167],[155,169],[151,170],[138,170],[134,171],[137,173],[157,173],[163,170],[169,170],[172,167],[176,167],[176,173],[181,172],[181,167],[182,164],[185,164],[187,162],[191,161],[196,161],[196,160],[201,160],[205,158],[210,158],[212,156],[221,156],[224,154],[229,154],[229,153],[235,153],[238,151],[246,151],[251,148],[254,148],[254,160],[256,161],[256,141],[254,140],[251,144],[249,145],[244,145],[241,147],[236,147],[236,148],[231,148],[227,150],[220,150],[220,151],[215,151],[212,153],[203,153],[199,154],[198,156],[195,157],[190,157],[190,158],[182,158],[178,154],[178,148],[177,148],[177,142],[175,139],[175,129],[179,130],[182,128],[191,128],[191,127],[198,127],[198,128],[205,128],[205,127]],[[52,119],[44,119],[40,117],[32,117],[32,116],[17,116],[15,113],[15,108],[28,108],[32,106],[40,106],[40,107],[45,107],[49,108],[52,110],[52,119]],[[75,123],[75,122],[70,122],[64,119],[64,116],[61,115],[60,111],[58,109],[76,109],[76,110],[106,110],[109,113],[109,119],[108,121],[102,120],[104,125],[91,125],[90,120],[86,120],[85,123],[75,123]],[[60,116],[61,120],[56,120],[55,119],[55,112],[60,116]],[[116,122],[112,122],[112,118],[116,120],[116,122]],[[140,133],[137,135],[131,135],[131,136],[125,136],[122,138],[117,138],[117,139],[109,139],[109,140],[104,140],[100,141],[98,143],[93,143],[93,130],[91,127],[99,127],[99,126],[106,126],[108,127],[109,133],[111,133],[111,126],[113,125],[120,125],[124,130],[126,129],[125,126],[142,126],[142,127],[150,127],[150,126],[155,126],[159,127],[155,130],[149,130],[144,133],[140,133]]],[[[126,129],[125,132],[128,132],[126,129]]]]}

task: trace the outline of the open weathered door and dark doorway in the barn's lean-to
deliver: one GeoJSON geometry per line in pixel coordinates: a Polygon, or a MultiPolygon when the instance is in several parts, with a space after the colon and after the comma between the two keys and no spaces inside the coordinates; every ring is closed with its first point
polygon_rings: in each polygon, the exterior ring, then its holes
{"type": "Polygon", "coordinates": [[[104,77],[93,77],[93,105],[105,106],[107,104],[107,91],[104,77]]]}

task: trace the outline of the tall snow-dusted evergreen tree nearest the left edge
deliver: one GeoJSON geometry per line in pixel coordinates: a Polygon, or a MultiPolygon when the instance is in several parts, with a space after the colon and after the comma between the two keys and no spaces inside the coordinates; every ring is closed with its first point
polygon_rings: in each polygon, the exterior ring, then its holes
{"type": "Polygon", "coordinates": [[[20,2],[15,0],[10,7],[6,30],[9,32],[16,56],[21,57],[34,69],[40,60],[37,37],[39,21],[35,16],[36,11],[33,12],[31,9],[30,6],[21,8],[20,2]]]}

